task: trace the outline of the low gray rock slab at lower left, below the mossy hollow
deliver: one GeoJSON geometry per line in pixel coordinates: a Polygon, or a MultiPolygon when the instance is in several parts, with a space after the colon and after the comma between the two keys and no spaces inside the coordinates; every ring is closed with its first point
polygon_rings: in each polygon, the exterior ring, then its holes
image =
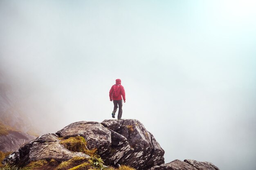
{"type": "Polygon", "coordinates": [[[76,156],[90,158],[81,152],[71,152],[65,149],[63,145],[59,144],[59,141],[55,134],[40,136],[6,157],[3,164],[11,162],[18,166],[25,166],[31,161],[41,159],[55,159],[61,162],[76,156]]]}

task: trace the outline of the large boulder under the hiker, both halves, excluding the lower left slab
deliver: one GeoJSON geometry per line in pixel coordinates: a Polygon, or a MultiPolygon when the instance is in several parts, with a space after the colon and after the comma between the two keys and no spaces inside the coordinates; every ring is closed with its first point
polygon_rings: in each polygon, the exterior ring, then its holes
{"type": "Polygon", "coordinates": [[[148,169],[164,163],[164,150],[138,120],[80,121],[56,132],[59,137],[82,136],[88,149],[97,148],[106,164],[148,169]],[[142,159],[143,158],[143,159],[142,159]],[[139,161],[138,161],[139,160],[139,161]]]}

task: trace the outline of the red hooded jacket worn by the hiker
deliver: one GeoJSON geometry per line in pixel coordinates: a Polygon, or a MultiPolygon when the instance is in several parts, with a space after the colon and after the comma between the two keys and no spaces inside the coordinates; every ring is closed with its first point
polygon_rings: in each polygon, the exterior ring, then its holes
{"type": "Polygon", "coordinates": [[[125,91],[124,91],[124,86],[121,85],[121,79],[116,79],[116,84],[114,84],[109,91],[109,98],[110,100],[121,100],[121,99],[125,99],[125,91]],[[115,96],[115,94],[113,95],[113,93],[117,91],[118,95],[115,96]]]}

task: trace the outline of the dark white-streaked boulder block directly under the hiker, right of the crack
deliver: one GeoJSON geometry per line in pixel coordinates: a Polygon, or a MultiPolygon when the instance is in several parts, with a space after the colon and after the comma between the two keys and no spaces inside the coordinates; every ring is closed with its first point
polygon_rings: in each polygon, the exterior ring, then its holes
{"type": "Polygon", "coordinates": [[[101,124],[111,130],[112,136],[110,149],[101,155],[104,160],[136,169],[164,163],[164,150],[138,120],[104,120],[101,124]]]}

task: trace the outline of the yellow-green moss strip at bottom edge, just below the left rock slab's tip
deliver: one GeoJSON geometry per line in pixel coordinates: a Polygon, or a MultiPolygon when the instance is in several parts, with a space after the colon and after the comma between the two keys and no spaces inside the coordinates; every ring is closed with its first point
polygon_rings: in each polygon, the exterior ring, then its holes
{"type": "Polygon", "coordinates": [[[58,165],[58,167],[56,168],[56,170],[65,170],[65,169],[69,169],[72,168],[74,166],[78,166],[81,163],[85,163],[88,162],[88,159],[84,158],[84,157],[74,157],[68,161],[64,161],[61,164],[58,165]]]}

